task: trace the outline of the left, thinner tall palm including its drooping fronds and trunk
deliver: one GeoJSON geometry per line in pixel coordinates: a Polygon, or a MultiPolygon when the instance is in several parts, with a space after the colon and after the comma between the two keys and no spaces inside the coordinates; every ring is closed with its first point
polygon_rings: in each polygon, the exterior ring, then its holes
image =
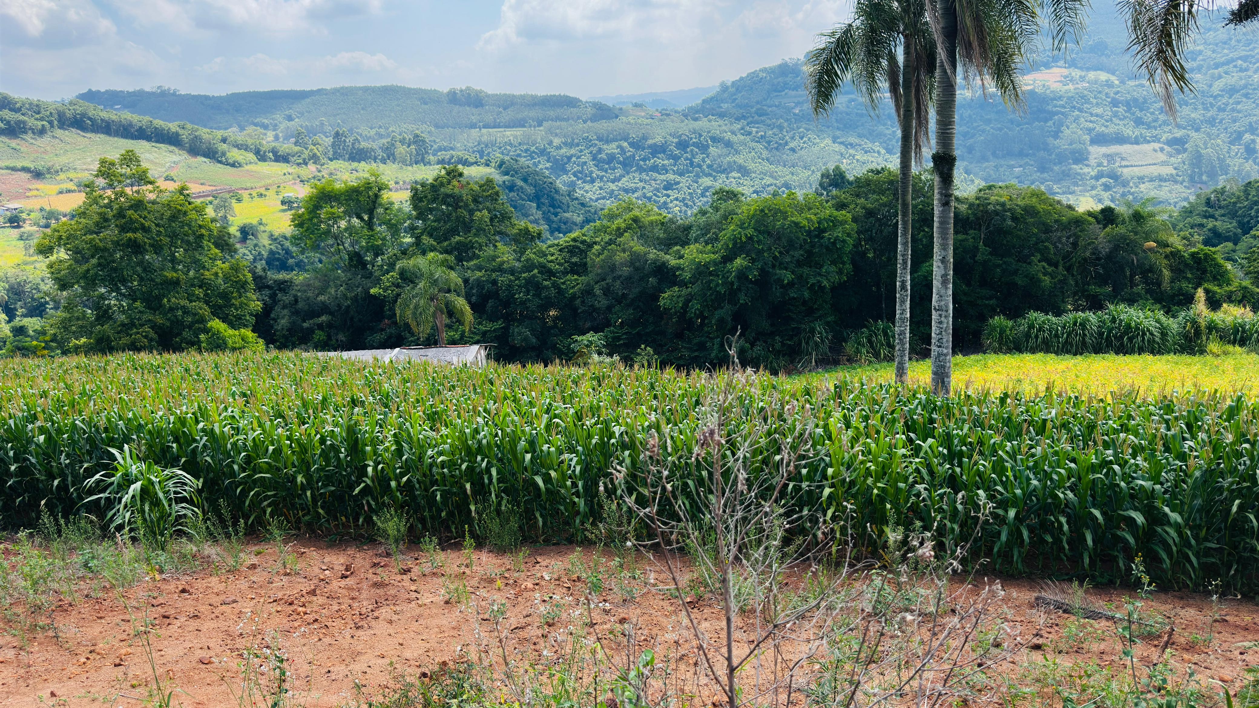
{"type": "Polygon", "coordinates": [[[909,265],[914,163],[928,141],[935,43],[925,0],[859,0],[852,19],[818,35],[805,67],[813,116],[827,115],[845,82],[870,111],[886,86],[900,127],[900,185],[896,233],[896,382],[909,380],[909,265]],[[896,59],[896,45],[900,59],[896,59]]]}

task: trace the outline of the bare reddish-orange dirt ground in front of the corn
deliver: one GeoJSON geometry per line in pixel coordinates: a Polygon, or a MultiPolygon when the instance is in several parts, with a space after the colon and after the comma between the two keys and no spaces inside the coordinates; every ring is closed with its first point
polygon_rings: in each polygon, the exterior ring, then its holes
{"type": "MultiPolygon", "coordinates": [[[[310,707],[349,702],[355,682],[371,694],[388,682],[392,670],[418,673],[453,658],[456,648],[476,641],[477,619],[443,602],[443,572],[463,578],[468,591],[480,593],[483,601],[506,601],[502,626],[511,629],[512,646],[525,654],[546,648],[555,629],[541,624],[535,600],[546,595],[579,598],[583,590],[583,583],[565,577],[570,547],[531,549],[522,573],[511,571],[506,556],[481,551],[476,552],[471,572],[457,567],[462,561],[460,553],[447,552],[442,571],[424,573],[427,563],[413,559],[407,563],[409,573],[398,573],[378,544],[302,540],[292,547],[300,569],[288,576],[274,572],[272,545],[252,548],[262,551],[254,558],[256,566],[251,563],[254,567],[222,576],[199,571],[162,577],[141,582],[128,592],[136,611],[142,614],[147,607],[156,621],[152,645],[157,669],[172,679],[181,692],[176,693],[176,700],[185,707],[237,705],[228,683],[233,682],[239,690],[240,653],[271,636],[272,630],[279,634],[288,654],[298,702],[310,707]],[[347,566],[353,571],[346,573],[347,566]]],[[[645,562],[643,567],[651,568],[651,563],[645,562]]],[[[660,577],[661,572],[655,573],[660,577]]],[[[1008,624],[1024,645],[1020,663],[1056,651],[1055,640],[1070,617],[1046,614],[1034,605],[1032,596],[1040,588],[1036,582],[1002,585],[1008,624]]],[[[1090,597],[1117,603],[1121,612],[1124,595],[1112,588],[1090,590],[1090,597]]],[[[687,635],[680,631],[684,624],[676,602],[661,593],[645,592],[628,605],[612,592],[601,600],[593,611],[596,630],[607,631],[614,622],[628,620],[635,625],[640,646],[667,650],[686,640],[687,635]]],[[[573,600],[569,607],[577,605],[573,600]]],[[[1201,679],[1220,682],[1210,684],[1216,690],[1220,685],[1235,690],[1245,669],[1259,664],[1259,650],[1236,646],[1259,640],[1259,606],[1254,602],[1225,600],[1210,645],[1192,639],[1206,632],[1212,611],[1209,598],[1156,592],[1143,610],[1161,612],[1175,624],[1170,644],[1173,665],[1178,670],[1192,665],[1201,679]]],[[[700,602],[697,615],[706,624],[715,621],[720,611],[710,602],[700,602]]],[[[128,641],[131,620],[115,596],[103,592],[97,600],[63,602],[54,619],[59,639],[44,632],[28,649],[13,636],[0,639],[0,707],[35,707],[49,700],[87,705],[111,703],[118,694],[145,697],[151,679],[149,661],[140,645],[128,641]]],[[[1113,625],[1097,625],[1108,630],[1108,639],[1093,645],[1089,650],[1093,656],[1078,649],[1059,659],[1119,664],[1113,625]]],[[[1141,645],[1138,661],[1151,663],[1156,644],[1141,645]]]]}

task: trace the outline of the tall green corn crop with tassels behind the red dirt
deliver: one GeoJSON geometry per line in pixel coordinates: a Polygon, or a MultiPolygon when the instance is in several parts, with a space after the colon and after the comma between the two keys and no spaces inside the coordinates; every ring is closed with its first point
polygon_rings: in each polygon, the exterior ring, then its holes
{"type": "MultiPolygon", "coordinates": [[[[188,472],[206,511],[256,529],[365,537],[393,505],[417,533],[462,535],[511,505],[534,538],[575,540],[601,490],[614,491],[612,470],[641,470],[653,437],[705,494],[696,445],[729,375],[301,354],[4,360],[0,373],[6,528],[42,513],[103,518],[84,482],[126,447],[188,472]]],[[[754,375],[734,409],[728,438],[754,414],[782,430],[812,417],[793,504],[860,548],[920,524],[946,552],[978,534],[969,562],[992,572],[1128,582],[1141,554],[1163,587],[1259,592],[1259,403],[1244,396],[940,398],[754,375]]]]}

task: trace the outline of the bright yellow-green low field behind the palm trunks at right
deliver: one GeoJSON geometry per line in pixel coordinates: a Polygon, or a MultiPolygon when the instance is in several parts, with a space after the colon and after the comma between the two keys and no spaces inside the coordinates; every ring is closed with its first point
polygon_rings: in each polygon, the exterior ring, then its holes
{"type": "MultiPolygon", "coordinates": [[[[930,383],[930,362],[910,362],[909,379],[917,384],[930,383]]],[[[847,375],[870,380],[891,380],[891,364],[838,367],[811,377],[847,375]]],[[[1021,391],[1042,393],[1046,389],[1071,393],[1108,393],[1138,391],[1170,393],[1172,391],[1214,389],[1239,393],[1259,392],[1259,355],[1230,357],[1122,357],[1095,354],[1088,357],[1056,357],[1054,354],[980,354],[953,358],[956,388],[1021,391]]]]}

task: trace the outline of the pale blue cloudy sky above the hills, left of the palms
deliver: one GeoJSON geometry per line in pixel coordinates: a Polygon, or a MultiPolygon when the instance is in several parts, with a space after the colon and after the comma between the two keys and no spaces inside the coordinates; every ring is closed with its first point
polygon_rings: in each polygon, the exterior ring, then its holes
{"type": "Polygon", "coordinates": [[[399,83],[589,97],[801,57],[851,0],[0,0],[0,91],[399,83]]]}

